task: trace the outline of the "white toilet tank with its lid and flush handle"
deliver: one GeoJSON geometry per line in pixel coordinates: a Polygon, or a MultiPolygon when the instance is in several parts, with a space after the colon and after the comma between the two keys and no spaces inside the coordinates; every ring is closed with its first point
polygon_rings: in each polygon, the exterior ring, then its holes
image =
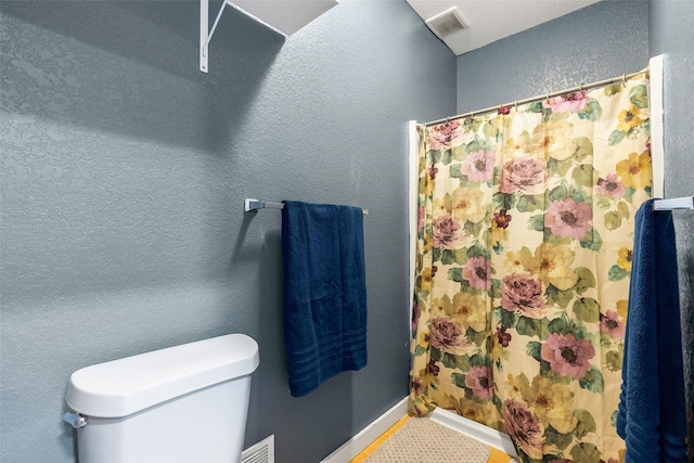
{"type": "Polygon", "coordinates": [[[230,334],[76,371],[79,463],[237,463],[258,363],[256,342],[230,334]]]}

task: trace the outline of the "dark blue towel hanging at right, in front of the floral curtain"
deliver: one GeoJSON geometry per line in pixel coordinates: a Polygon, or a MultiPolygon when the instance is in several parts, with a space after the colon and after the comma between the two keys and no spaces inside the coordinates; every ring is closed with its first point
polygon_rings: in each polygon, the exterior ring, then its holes
{"type": "Polygon", "coordinates": [[[639,208],[617,414],[627,463],[686,462],[686,420],[674,228],[639,208]]]}

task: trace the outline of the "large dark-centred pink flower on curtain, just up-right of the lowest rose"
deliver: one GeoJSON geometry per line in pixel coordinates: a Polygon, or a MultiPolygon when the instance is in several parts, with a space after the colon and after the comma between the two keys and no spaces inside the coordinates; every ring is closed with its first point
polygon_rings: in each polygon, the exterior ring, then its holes
{"type": "Polygon", "coordinates": [[[595,357],[595,348],[586,339],[577,339],[571,333],[552,333],[540,349],[543,360],[552,371],[580,380],[590,369],[589,360],[595,357]]]}

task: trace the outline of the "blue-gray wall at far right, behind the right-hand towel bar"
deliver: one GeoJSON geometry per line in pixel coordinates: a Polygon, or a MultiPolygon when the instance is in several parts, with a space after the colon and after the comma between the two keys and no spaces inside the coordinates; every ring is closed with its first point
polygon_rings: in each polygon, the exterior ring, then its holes
{"type": "MultiPolygon", "coordinates": [[[[694,195],[694,2],[652,0],[651,54],[664,55],[665,195],[694,195]]],[[[687,408],[694,412],[694,211],[674,211],[687,408]]],[[[690,420],[694,416],[690,414],[690,420]]],[[[694,461],[694,422],[690,421],[694,461]]]]}

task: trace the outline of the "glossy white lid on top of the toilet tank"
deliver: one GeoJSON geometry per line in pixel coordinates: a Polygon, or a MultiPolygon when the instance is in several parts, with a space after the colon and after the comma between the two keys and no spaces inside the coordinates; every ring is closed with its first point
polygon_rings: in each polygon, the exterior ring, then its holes
{"type": "Polygon", "coordinates": [[[66,401],[83,415],[123,417],[249,375],[258,363],[258,344],[245,334],[229,334],[78,370],[66,401]]]}

